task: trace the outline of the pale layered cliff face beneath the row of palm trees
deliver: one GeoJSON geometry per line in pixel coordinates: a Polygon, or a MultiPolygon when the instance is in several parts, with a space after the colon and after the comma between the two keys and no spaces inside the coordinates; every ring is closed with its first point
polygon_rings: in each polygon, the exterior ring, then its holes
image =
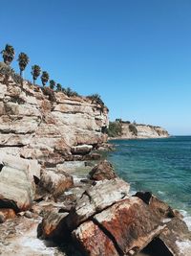
{"type": "Polygon", "coordinates": [[[48,165],[81,160],[107,140],[107,126],[107,107],[91,99],[0,74],[0,151],[48,165]]]}

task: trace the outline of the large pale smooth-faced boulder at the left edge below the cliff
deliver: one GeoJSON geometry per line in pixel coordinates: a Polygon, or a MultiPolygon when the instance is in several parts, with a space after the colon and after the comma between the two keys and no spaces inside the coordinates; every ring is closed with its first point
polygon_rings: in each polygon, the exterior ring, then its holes
{"type": "Polygon", "coordinates": [[[1,154],[0,163],[0,208],[29,209],[35,194],[34,176],[40,176],[37,161],[1,154]]]}

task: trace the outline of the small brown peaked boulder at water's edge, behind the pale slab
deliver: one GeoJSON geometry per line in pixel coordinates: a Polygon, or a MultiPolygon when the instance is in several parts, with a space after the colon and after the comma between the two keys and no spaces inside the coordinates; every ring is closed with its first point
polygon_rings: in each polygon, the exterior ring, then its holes
{"type": "Polygon", "coordinates": [[[117,177],[112,164],[107,160],[103,160],[97,164],[89,173],[89,175],[90,179],[93,180],[113,179],[117,177]]]}

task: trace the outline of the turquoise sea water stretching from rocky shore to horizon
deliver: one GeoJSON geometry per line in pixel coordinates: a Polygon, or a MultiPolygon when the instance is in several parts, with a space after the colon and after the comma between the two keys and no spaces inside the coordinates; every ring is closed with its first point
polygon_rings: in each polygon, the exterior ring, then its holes
{"type": "Polygon", "coordinates": [[[191,214],[191,136],[115,140],[108,153],[117,175],[132,191],[152,191],[172,207],[191,214]]]}

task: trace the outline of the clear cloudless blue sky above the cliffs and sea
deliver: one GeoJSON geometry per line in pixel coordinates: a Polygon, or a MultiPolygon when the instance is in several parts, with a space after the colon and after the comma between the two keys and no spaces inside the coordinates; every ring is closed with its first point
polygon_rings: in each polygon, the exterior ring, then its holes
{"type": "Polygon", "coordinates": [[[190,0],[2,0],[0,24],[0,49],[31,58],[26,78],[39,64],[99,93],[111,120],[191,134],[190,0]]]}

